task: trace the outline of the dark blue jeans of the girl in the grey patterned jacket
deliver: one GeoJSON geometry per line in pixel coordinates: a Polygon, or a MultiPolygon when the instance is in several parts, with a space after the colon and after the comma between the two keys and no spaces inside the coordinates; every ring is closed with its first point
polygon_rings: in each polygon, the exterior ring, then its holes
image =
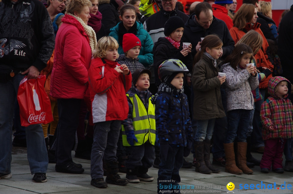
{"type": "Polygon", "coordinates": [[[228,112],[228,129],[224,143],[246,142],[251,110],[236,109],[228,112]]]}

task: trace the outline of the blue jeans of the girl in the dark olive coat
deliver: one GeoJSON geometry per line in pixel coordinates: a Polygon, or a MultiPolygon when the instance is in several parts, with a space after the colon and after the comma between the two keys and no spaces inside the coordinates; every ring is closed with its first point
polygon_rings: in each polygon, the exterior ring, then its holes
{"type": "Polygon", "coordinates": [[[194,141],[211,140],[216,119],[196,120],[196,134],[194,141]]]}

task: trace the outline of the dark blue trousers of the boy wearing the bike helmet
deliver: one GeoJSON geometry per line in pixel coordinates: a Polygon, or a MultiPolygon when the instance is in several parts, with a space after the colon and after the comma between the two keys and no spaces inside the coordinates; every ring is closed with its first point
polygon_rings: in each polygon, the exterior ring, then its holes
{"type": "Polygon", "coordinates": [[[179,169],[183,165],[184,147],[170,146],[168,143],[160,143],[160,169],[158,171],[158,193],[169,190],[171,193],[174,189],[162,188],[162,185],[180,183],[179,169]]]}

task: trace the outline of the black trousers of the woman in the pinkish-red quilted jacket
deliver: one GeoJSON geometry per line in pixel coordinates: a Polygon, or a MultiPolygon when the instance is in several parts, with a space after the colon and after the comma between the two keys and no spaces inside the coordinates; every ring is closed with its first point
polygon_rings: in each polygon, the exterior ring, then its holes
{"type": "Polygon", "coordinates": [[[59,122],[55,160],[56,165],[65,165],[72,161],[71,150],[75,143],[75,133],[79,124],[81,99],[57,99],[59,122]]]}

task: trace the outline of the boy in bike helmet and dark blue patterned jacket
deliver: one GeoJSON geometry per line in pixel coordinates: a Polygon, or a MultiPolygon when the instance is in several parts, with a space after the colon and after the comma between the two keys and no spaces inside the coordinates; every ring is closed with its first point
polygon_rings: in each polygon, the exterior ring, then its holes
{"type": "Polygon", "coordinates": [[[156,105],[156,131],[161,159],[158,193],[180,193],[179,169],[183,165],[183,156],[189,155],[193,142],[188,100],[182,87],[183,78],[188,72],[178,59],[164,61],[158,70],[162,83],[151,99],[156,105]]]}

